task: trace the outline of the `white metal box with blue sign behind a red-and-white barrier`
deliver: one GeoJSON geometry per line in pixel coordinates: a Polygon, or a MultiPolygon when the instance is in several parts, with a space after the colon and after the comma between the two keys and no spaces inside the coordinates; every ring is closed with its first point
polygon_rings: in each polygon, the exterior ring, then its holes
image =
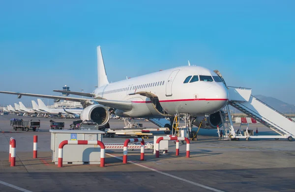
{"type": "MultiPolygon", "coordinates": [[[[99,130],[54,130],[51,129],[52,162],[58,164],[59,144],[64,140],[101,141],[103,131],[99,130]]],[[[100,146],[96,144],[66,144],[63,147],[62,163],[100,164],[100,146]]]]}

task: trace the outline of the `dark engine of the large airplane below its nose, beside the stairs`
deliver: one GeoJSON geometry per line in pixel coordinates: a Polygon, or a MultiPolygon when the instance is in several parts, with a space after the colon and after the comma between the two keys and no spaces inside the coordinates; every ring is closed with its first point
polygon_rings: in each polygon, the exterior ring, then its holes
{"type": "MultiPolygon", "coordinates": [[[[221,114],[223,117],[223,121],[225,121],[225,115],[224,115],[223,111],[221,111],[221,114]]],[[[205,117],[197,117],[197,119],[193,122],[193,125],[199,127],[201,121],[203,120],[201,128],[217,129],[217,125],[218,125],[218,127],[222,126],[222,120],[221,120],[219,111],[209,115],[209,117],[206,117],[206,120],[204,120],[204,118],[205,117]]]]}

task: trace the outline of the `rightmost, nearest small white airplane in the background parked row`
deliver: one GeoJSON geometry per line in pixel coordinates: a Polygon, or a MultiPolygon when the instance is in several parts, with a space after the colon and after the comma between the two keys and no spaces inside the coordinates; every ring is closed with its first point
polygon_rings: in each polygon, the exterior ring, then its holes
{"type": "Polygon", "coordinates": [[[37,99],[39,105],[39,111],[50,115],[61,115],[61,114],[70,114],[75,117],[79,117],[83,109],[50,109],[48,108],[41,99],[37,99]]]}

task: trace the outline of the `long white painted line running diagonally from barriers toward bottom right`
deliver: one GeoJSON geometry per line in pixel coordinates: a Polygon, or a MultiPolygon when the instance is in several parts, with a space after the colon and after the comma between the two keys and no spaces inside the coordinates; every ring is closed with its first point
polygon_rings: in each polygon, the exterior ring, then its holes
{"type": "MultiPolygon", "coordinates": [[[[119,159],[119,160],[123,160],[121,157],[117,157],[117,156],[112,155],[112,154],[109,154],[109,153],[106,153],[106,155],[109,155],[109,156],[111,156],[111,157],[115,157],[115,158],[117,158],[117,159],[119,159]]],[[[196,185],[196,186],[198,186],[198,187],[202,187],[202,188],[205,188],[205,189],[207,189],[207,190],[211,190],[211,191],[213,191],[213,192],[223,192],[223,191],[220,191],[220,190],[217,190],[217,189],[214,189],[214,188],[208,187],[208,186],[206,186],[206,185],[202,185],[202,184],[199,184],[199,183],[196,183],[196,182],[192,182],[192,181],[189,181],[189,180],[183,179],[183,178],[181,178],[181,177],[177,177],[177,176],[175,176],[175,175],[171,175],[171,174],[169,174],[169,173],[165,173],[165,172],[162,172],[162,171],[156,170],[156,169],[154,169],[154,168],[149,168],[149,167],[147,167],[147,166],[144,166],[144,165],[141,165],[141,164],[135,163],[135,162],[133,162],[133,161],[128,161],[128,163],[132,163],[132,164],[137,165],[137,166],[139,166],[139,167],[142,167],[142,168],[146,168],[146,169],[149,169],[149,170],[155,171],[155,172],[160,173],[160,174],[162,174],[162,175],[166,175],[166,176],[168,176],[168,177],[172,177],[172,178],[178,179],[178,180],[180,180],[180,181],[184,181],[184,182],[186,182],[186,183],[190,183],[190,184],[192,184],[192,185],[196,185]]]]}

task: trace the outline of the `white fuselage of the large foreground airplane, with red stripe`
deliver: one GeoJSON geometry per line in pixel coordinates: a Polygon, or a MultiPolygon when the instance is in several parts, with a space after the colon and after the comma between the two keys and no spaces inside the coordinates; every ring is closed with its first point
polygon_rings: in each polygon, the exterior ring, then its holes
{"type": "Polygon", "coordinates": [[[161,117],[152,106],[150,98],[132,95],[138,92],[157,96],[162,108],[171,115],[188,113],[203,116],[213,114],[227,104],[229,94],[220,79],[219,82],[208,82],[202,81],[198,76],[198,81],[184,83],[190,75],[217,76],[215,72],[203,67],[183,66],[110,83],[97,88],[93,93],[95,97],[108,100],[131,101],[131,111],[117,111],[117,115],[121,117],[161,117]]]}

